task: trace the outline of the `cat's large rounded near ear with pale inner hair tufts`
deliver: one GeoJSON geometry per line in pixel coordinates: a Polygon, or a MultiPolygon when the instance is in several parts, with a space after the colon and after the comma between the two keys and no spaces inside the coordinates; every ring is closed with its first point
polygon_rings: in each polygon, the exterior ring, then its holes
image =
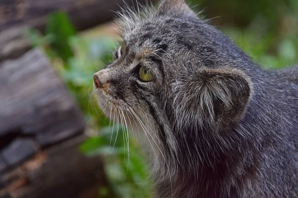
{"type": "Polygon", "coordinates": [[[191,107],[188,111],[199,119],[201,127],[224,131],[241,119],[252,92],[250,79],[243,72],[204,69],[187,79],[183,83],[188,90],[184,107],[191,107]]]}

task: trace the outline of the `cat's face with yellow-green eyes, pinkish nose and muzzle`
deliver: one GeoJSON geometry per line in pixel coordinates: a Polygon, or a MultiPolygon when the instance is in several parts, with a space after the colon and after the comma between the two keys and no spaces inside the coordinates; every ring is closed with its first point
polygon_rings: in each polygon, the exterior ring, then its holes
{"type": "Polygon", "coordinates": [[[108,106],[106,113],[110,113],[109,107],[136,113],[149,111],[150,100],[156,100],[155,93],[166,86],[159,54],[166,47],[124,38],[114,53],[114,61],[94,75],[99,104],[102,108],[108,106]]]}

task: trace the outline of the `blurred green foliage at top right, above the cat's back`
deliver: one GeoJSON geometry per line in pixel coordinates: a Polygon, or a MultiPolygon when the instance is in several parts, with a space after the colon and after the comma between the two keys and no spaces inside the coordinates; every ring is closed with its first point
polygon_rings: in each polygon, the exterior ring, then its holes
{"type": "Polygon", "coordinates": [[[298,0],[190,0],[261,66],[298,62],[298,0]]]}

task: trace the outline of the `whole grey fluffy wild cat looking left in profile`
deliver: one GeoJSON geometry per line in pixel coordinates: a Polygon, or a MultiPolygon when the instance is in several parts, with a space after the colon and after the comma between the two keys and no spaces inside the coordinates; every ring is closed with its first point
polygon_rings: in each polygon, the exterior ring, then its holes
{"type": "Polygon", "coordinates": [[[261,69],[183,0],[119,25],[95,93],[143,137],[156,197],[298,198],[298,66],[261,69]]]}

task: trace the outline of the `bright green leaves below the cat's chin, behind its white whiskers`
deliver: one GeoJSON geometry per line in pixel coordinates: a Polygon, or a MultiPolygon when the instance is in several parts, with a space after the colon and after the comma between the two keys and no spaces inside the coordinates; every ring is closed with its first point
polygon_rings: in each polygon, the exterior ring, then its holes
{"type": "Polygon", "coordinates": [[[151,198],[145,156],[131,141],[127,142],[127,137],[127,131],[121,127],[106,126],[100,136],[89,138],[80,150],[88,156],[108,156],[105,172],[118,198],[151,198]],[[129,150],[124,147],[127,144],[129,150]]]}

